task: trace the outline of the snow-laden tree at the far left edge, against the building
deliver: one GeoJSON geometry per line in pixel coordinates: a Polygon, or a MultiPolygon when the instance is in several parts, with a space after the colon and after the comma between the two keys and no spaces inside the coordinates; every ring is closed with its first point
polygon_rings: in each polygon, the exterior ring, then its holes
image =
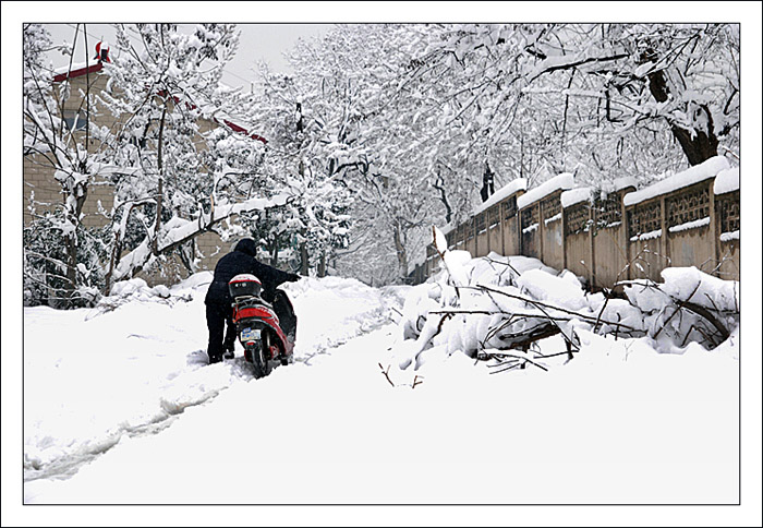
{"type": "Polygon", "coordinates": [[[90,93],[95,75],[78,94],[72,94],[68,76],[53,86],[46,53],[69,55],[71,71],[72,48],[55,47],[40,24],[24,24],[23,34],[24,156],[52,171],[61,189],[61,201],[53,204],[41,204],[31,193],[32,219],[24,228],[25,302],[78,305],[90,302],[102,281],[98,254],[104,250],[96,230],[82,225],[82,211],[94,177],[108,166],[102,145],[109,131],[89,123],[97,115],[90,93]],[[66,121],[70,110],[86,116],[84,130],[66,121]]]}

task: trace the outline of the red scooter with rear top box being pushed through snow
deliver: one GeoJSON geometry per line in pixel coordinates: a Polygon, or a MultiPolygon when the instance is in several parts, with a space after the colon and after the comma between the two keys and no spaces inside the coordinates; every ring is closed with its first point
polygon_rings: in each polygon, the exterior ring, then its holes
{"type": "Polygon", "coordinates": [[[294,344],[281,329],[272,305],[261,297],[263,285],[257,277],[237,275],[228,283],[228,290],[233,299],[235,334],[244,347],[244,359],[254,367],[254,376],[268,375],[274,363],[289,364],[294,344]]]}

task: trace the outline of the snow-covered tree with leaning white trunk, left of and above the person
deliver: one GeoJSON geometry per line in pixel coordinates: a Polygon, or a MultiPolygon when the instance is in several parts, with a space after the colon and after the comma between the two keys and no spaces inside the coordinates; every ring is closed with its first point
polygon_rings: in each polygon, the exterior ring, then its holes
{"type": "Polygon", "coordinates": [[[193,268],[193,238],[233,214],[282,204],[259,171],[264,144],[233,130],[247,105],[220,84],[238,48],[230,24],[117,26],[117,53],[102,94],[121,124],[114,156],[131,171],[114,175],[110,280],[130,277],[180,251],[193,268]],[[140,36],[136,49],[130,34],[140,36]],[[209,123],[204,127],[203,122],[209,123]],[[191,245],[191,248],[189,248],[191,245]],[[130,253],[121,256],[123,250],[130,253]]]}

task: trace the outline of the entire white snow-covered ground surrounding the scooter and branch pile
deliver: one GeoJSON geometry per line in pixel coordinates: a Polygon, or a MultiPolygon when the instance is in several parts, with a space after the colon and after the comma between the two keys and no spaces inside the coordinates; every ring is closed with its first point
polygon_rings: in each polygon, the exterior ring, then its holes
{"type": "Polygon", "coordinates": [[[548,372],[463,353],[401,370],[411,288],[303,279],[296,362],[254,380],[241,350],[194,359],[209,278],[134,283],[110,311],[25,309],[25,503],[738,500],[737,333],[682,355],[582,333],[548,372]]]}

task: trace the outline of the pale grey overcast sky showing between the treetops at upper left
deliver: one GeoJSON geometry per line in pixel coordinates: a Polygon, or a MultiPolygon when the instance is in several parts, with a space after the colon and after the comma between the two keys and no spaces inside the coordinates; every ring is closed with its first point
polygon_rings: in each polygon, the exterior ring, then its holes
{"type": "MultiPolygon", "coordinates": [[[[76,24],[46,24],[55,44],[64,41],[70,45],[74,41],[76,24]]],[[[190,26],[192,27],[192,26],[190,26]]],[[[240,24],[241,32],[239,50],[233,60],[226,67],[222,82],[230,86],[250,87],[256,83],[257,74],[254,72],[257,61],[264,60],[270,64],[274,71],[290,72],[282,53],[290,49],[298,38],[314,38],[324,35],[331,28],[331,24],[240,24]]],[[[109,24],[87,24],[88,57],[95,57],[95,45],[101,38],[107,43],[117,40],[116,32],[109,24]]],[[[137,43],[136,43],[137,44],[137,43]]],[[[53,68],[69,65],[69,58],[60,53],[51,55],[53,68]]],[[[76,37],[74,62],[85,62],[85,40],[83,25],[76,37]]]]}

